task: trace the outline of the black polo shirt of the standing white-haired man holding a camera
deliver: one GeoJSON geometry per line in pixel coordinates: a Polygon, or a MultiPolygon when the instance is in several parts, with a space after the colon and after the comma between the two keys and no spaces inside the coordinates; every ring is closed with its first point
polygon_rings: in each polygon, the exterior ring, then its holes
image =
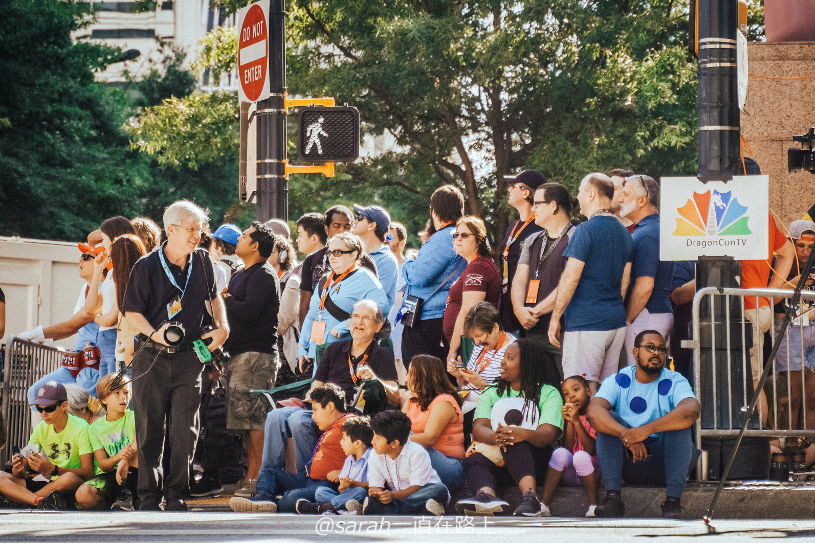
{"type": "MultiPolygon", "coordinates": [[[[170,304],[175,296],[181,295],[181,291],[165,274],[159,251],[164,251],[164,247],[142,256],[133,266],[130,280],[127,282],[124,307],[121,308],[124,313],[141,313],[156,330],[161,327],[162,322],[170,320],[167,304],[170,304]]],[[[192,253],[192,273],[186,287],[189,256],[183,268],[171,263],[166,255],[164,260],[178,287],[185,289],[181,299],[181,311],[175,314],[172,320],[181,322],[184,326],[182,344],[191,344],[200,338],[201,327],[212,322],[205,305],[210,296],[213,299],[218,296],[212,259],[209,258],[209,252],[204,249],[197,249],[192,253]]]]}

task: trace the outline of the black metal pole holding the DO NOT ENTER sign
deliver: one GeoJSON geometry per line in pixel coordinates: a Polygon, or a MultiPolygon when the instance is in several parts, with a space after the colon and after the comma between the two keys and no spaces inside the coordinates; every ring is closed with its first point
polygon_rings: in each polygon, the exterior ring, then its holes
{"type": "Polygon", "coordinates": [[[271,96],[258,102],[258,221],[289,220],[286,181],[286,1],[269,5],[269,78],[271,96]]]}

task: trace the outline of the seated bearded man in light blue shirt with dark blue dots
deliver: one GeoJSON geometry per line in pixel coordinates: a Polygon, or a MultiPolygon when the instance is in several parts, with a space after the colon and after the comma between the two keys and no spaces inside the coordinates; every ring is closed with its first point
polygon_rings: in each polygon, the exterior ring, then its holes
{"type": "Polygon", "coordinates": [[[699,417],[699,402],[688,379],[664,367],[667,349],[658,331],[641,331],[634,344],[637,365],[603,381],[588,405],[606,484],[606,497],[594,514],[623,516],[624,478],[630,484],[666,485],[663,518],[676,519],[685,480],[698,458],[690,427],[699,417]]]}

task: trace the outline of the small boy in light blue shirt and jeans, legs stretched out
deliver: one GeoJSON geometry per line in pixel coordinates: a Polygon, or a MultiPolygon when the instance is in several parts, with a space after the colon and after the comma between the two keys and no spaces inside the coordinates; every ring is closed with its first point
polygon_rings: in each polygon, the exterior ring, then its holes
{"type": "Polygon", "coordinates": [[[371,419],[354,417],[342,423],[342,452],[348,455],[339,475],[328,474],[328,480],[339,483],[337,490],[330,487],[317,488],[314,503],[306,499],[297,500],[295,509],[301,515],[337,515],[339,510],[356,511],[362,509],[368,496],[368,458],[371,456],[371,419]],[[333,478],[336,477],[336,480],[333,478]]]}

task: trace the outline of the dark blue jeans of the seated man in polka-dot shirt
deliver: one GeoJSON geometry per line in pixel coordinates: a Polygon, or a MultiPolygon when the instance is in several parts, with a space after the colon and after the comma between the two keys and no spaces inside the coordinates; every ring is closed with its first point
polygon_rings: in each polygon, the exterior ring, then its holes
{"type": "MultiPolygon", "coordinates": [[[[610,413],[618,423],[630,428],[619,414],[610,413]]],[[[635,463],[628,458],[619,437],[597,432],[597,460],[606,490],[619,491],[625,479],[628,484],[664,484],[667,496],[682,497],[690,466],[699,455],[690,437],[690,427],[663,431],[659,437],[648,437],[642,443],[651,452],[648,458],[635,463]]]]}

